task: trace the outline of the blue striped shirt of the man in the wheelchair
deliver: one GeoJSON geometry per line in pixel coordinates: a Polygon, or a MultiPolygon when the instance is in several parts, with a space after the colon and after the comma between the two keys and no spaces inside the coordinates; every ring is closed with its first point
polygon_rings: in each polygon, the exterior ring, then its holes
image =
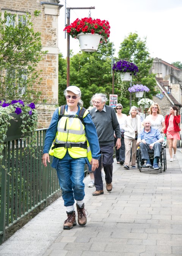
{"type": "Polygon", "coordinates": [[[144,139],[146,141],[147,144],[152,144],[155,141],[158,141],[158,139],[161,139],[162,135],[160,134],[160,132],[151,127],[151,131],[149,131],[148,133],[146,133],[146,131],[141,130],[141,132],[138,134],[138,139],[144,139]]]}

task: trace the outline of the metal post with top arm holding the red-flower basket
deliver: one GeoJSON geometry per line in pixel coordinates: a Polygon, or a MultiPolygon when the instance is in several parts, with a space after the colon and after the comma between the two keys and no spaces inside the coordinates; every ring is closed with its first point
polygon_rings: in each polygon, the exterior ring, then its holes
{"type": "MultiPolygon", "coordinates": [[[[67,7],[66,8],[66,14],[67,14],[67,24],[66,26],[69,26],[70,25],[70,10],[73,10],[73,9],[79,9],[79,10],[82,10],[82,9],[95,9],[95,7],[67,7]]],[[[66,87],[69,86],[69,80],[70,80],[70,35],[69,33],[67,33],[67,84],[66,84],[66,87]]]]}

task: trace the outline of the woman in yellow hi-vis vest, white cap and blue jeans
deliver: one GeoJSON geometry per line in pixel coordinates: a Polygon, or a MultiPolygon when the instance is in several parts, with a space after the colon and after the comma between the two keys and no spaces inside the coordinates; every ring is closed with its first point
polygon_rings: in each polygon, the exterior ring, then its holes
{"type": "Polygon", "coordinates": [[[50,163],[56,169],[67,219],[63,229],[72,229],[77,224],[74,203],[77,201],[78,224],[86,224],[85,213],[85,163],[91,170],[98,168],[100,147],[95,125],[88,110],[81,109],[81,91],[77,86],[69,86],[64,91],[67,104],[55,110],[45,136],[42,162],[50,163]]]}

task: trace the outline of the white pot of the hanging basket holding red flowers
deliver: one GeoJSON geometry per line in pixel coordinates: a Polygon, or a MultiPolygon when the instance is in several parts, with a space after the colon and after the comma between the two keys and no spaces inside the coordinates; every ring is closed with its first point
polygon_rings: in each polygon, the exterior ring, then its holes
{"type": "Polygon", "coordinates": [[[77,35],[82,51],[97,51],[101,35],[91,33],[80,33],[77,35]]]}

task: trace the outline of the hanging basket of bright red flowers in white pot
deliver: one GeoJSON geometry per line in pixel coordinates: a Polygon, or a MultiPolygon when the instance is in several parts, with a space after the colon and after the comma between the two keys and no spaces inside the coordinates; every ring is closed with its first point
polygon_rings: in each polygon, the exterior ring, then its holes
{"type": "Polygon", "coordinates": [[[97,51],[102,39],[107,41],[110,35],[108,21],[100,19],[82,18],[76,19],[71,25],[64,28],[72,38],[78,38],[82,51],[97,51]],[[102,39],[101,39],[102,38],[102,39]]]}

